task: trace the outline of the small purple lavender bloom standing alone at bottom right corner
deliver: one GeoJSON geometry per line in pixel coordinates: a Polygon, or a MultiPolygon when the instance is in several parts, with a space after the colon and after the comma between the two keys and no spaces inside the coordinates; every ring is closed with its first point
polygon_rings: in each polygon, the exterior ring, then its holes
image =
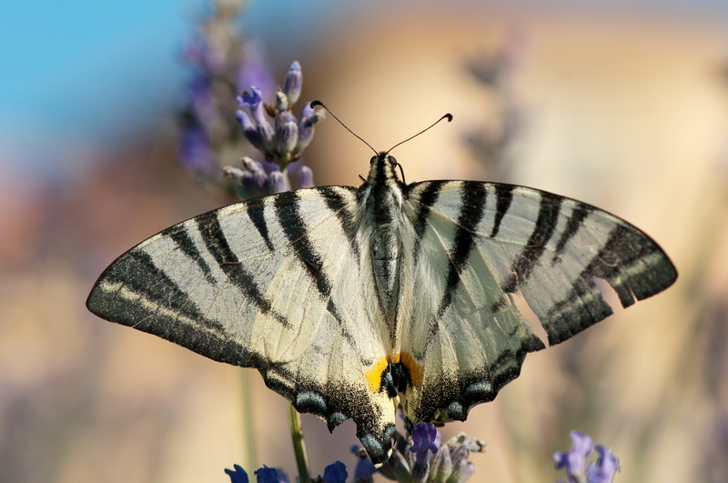
{"type": "Polygon", "coordinates": [[[599,453],[596,463],[589,463],[584,469],[586,459],[594,450],[591,438],[581,431],[571,431],[571,449],[553,454],[556,469],[564,468],[568,483],[611,483],[614,474],[619,470],[619,459],[612,455],[612,450],[597,445],[599,453]]]}

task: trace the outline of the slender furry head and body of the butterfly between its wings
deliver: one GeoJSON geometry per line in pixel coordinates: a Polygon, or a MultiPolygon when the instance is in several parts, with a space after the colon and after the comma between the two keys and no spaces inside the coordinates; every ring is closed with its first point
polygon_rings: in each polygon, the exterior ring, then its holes
{"type": "Polygon", "coordinates": [[[369,259],[374,286],[389,329],[394,329],[399,299],[399,273],[402,261],[402,188],[395,168],[397,161],[386,153],[371,159],[366,183],[361,186],[360,229],[369,237],[369,259]]]}

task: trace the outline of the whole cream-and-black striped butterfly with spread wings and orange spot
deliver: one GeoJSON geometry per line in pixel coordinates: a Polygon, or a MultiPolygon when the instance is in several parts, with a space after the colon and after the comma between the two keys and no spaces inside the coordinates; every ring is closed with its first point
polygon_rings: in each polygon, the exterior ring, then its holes
{"type": "Polygon", "coordinates": [[[672,285],[635,226],[525,186],[405,184],[389,152],[361,186],[263,196],[171,226],[122,255],[87,307],[266,385],[329,430],[351,418],[375,464],[408,425],[464,420],[544,348],[672,285]]]}

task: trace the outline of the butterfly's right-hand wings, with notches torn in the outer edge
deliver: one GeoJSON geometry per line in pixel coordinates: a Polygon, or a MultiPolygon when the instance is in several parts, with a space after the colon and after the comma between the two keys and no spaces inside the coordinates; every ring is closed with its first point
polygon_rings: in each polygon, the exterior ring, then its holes
{"type": "Polygon", "coordinates": [[[465,419],[544,347],[513,304],[517,293],[557,344],[612,314],[596,278],[627,307],[677,276],[649,236],[570,198],[470,181],[417,183],[407,193],[418,235],[405,251],[414,282],[401,297],[420,303],[402,316],[402,333],[416,335],[402,337],[402,350],[422,367],[421,385],[404,394],[410,422],[465,419]]]}

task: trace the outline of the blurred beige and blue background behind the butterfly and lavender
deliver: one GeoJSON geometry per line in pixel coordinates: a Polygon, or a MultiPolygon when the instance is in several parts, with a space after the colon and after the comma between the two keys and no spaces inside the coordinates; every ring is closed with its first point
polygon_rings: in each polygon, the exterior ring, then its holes
{"type": "MultiPolygon", "coordinates": [[[[126,249],[236,200],[219,167],[252,152],[230,93],[254,79],[272,100],[294,60],[296,112],[319,98],[378,149],[454,115],[397,148],[408,181],[576,197],[678,267],[674,287],[532,354],[495,402],[444,429],[487,441],[473,481],[563,478],[551,455],[573,428],[621,458],[616,481],[725,481],[726,21],[707,0],[0,6],[0,481],[296,473],[287,402],[257,372],[84,305],[126,249]]],[[[329,117],[305,162],[317,185],[358,185],[369,156],[329,117]]],[[[340,459],[353,475],[353,424],[303,424],[313,473],[340,459]]]]}

